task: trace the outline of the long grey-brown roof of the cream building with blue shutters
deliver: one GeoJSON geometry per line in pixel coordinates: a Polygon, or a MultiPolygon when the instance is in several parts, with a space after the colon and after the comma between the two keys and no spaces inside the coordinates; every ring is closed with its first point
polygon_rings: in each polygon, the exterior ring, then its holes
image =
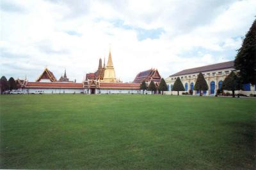
{"type": "Polygon", "coordinates": [[[231,60],[228,62],[220,62],[217,64],[211,64],[208,66],[184,69],[184,70],[179,71],[178,73],[172,74],[170,76],[180,76],[180,75],[184,75],[184,74],[202,73],[205,71],[214,71],[214,70],[218,70],[218,69],[228,69],[228,68],[233,68],[233,67],[234,67],[234,60],[231,60]]]}

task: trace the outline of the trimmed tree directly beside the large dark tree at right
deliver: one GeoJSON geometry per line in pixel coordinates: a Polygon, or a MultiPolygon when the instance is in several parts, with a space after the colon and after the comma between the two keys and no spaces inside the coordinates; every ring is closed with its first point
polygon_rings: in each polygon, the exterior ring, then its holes
{"type": "Polygon", "coordinates": [[[232,91],[232,96],[235,97],[235,90],[242,89],[241,80],[239,80],[238,76],[234,71],[232,71],[223,81],[222,90],[232,91]]]}

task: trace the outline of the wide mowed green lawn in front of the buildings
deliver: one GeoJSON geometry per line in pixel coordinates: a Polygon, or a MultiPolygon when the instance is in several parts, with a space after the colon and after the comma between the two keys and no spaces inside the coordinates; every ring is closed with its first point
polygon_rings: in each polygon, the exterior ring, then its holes
{"type": "Polygon", "coordinates": [[[256,99],[9,95],[8,169],[253,169],[256,99]]]}

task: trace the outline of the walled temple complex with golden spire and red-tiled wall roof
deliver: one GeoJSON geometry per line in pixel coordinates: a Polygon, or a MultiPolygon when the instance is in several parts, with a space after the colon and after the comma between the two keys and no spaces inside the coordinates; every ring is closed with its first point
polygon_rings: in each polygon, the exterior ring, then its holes
{"type": "Polygon", "coordinates": [[[20,89],[25,93],[35,93],[38,90],[44,93],[65,94],[139,94],[140,83],[122,83],[116,79],[111,52],[109,52],[107,66],[102,66],[102,59],[99,59],[99,66],[95,73],[86,74],[82,83],[69,81],[65,70],[64,76],[57,81],[54,74],[45,67],[44,71],[35,82],[20,81],[20,89]]]}

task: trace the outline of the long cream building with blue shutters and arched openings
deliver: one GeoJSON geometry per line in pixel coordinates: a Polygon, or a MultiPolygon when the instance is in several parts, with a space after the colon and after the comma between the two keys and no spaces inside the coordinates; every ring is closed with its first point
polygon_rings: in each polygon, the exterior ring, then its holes
{"type": "MultiPolygon", "coordinates": [[[[173,83],[175,80],[180,77],[185,91],[189,92],[191,90],[193,95],[200,95],[199,91],[194,90],[194,85],[196,78],[199,73],[204,75],[204,78],[207,82],[209,90],[205,90],[203,93],[204,96],[215,96],[218,89],[221,89],[223,80],[231,73],[235,71],[234,61],[221,62],[218,64],[211,64],[208,66],[195,67],[191,69],[184,69],[178,73],[172,74],[166,78],[166,83],[168,91],[166,94],[177,94],[177,92],[172,91],[173,83]]],[[[227,92],[227,91],[225,91],[227,92]]],[[[255,85],[250,85],[250,83],[244,85],[244,90],[237,90],[236,94],[244,94],[250,96],[250,94],[255,94],[255,85]]]]}

